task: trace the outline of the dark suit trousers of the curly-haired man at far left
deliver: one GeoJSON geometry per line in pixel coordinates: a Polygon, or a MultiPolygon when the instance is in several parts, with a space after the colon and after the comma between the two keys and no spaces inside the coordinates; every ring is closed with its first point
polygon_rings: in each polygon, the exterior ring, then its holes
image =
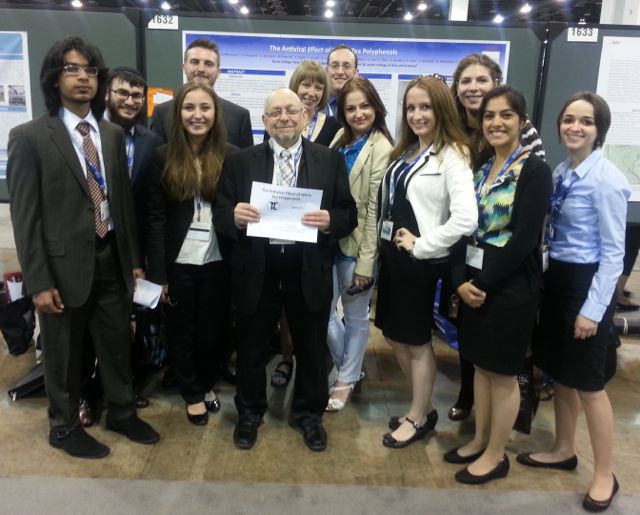
{"type": "Polygon", "coordinates": [[[132,302],[124,284],[112,231],[104,240],[96,239],[95,271],[87,301],[78,307],[65,306],[59,315],[40,315],[52,428],[65,431],[79,423],[82,356],[87,329],[100,362],[109,417],[122,419],[135,414],[129,335],[132,302]]]}

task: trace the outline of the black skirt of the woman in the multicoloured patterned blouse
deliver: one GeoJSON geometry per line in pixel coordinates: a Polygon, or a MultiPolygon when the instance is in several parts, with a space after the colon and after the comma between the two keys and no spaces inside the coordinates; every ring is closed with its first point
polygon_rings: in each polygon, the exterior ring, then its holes
{"type": "MultiPolygon", "coordinates": [[[[483,245],[486,265],[502,248],[483,245]]],[[[480,273],[467,266],[467,278],[480,273]]],[[[540,302],[540,277],[523,264],[487,293],[479,308],[460,301],[460,354],[474,365],[504,375],[522,371],[540,302]]]]}

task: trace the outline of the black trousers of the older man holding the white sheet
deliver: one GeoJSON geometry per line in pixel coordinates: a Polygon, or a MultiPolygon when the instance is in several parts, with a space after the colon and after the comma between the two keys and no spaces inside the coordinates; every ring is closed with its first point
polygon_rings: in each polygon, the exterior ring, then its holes
{"type": "Polygon", "coordinates": [[[329,400],[325,356],[331,302],[319,311],[308,310],[300,286],[301,262],[301,245],[270,245],[258,308],[251,314],[238,313],[235,402],[240,422],[259,422],[267,410],[265,367],[283,307],[297,367],[293,419],[298,426],[322,420],[329,400]]]}

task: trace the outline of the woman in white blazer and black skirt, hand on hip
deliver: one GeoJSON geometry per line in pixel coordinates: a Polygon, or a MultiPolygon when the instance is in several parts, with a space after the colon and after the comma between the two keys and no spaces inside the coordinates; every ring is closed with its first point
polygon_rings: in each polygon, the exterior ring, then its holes
{"type": "Polygon", "coordinates": [[[411,406],[392,417],[383,444],[406,447],[438,420],[431,394],[436,363],[431,346],[433,301],[449,247],[476,228],[478,210],[467,138],[447,86],[412,80],[402,101],[400,141],[380,187],[380,284],[375,325],[409,379],[411,406]]]}

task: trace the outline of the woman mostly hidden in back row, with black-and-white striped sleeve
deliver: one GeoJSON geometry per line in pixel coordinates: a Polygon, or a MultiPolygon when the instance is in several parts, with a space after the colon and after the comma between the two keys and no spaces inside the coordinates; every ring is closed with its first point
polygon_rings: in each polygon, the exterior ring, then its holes
{"type": "MultiPolygon", "coordinates": [[[[500,65],[484,54],[469,54],[460,60],[453,73],[451,93],[456,101],[460,121],[471,139],[474,167],[486,163],[491,154],[486,146],[480,148],[482,130],[478,110],[484,96],[499,86],[501,82],[502,69],[500,65]]],[[[524,151],[544,159],[542,141],[538,131],[528,118],[520,131],[520,144],[524,151]]],[[[451,420],[464,420],[471,414],[473,371],[473,364],[460,356],[460,392],[456,403],[449,409],[451,420]]]]}

